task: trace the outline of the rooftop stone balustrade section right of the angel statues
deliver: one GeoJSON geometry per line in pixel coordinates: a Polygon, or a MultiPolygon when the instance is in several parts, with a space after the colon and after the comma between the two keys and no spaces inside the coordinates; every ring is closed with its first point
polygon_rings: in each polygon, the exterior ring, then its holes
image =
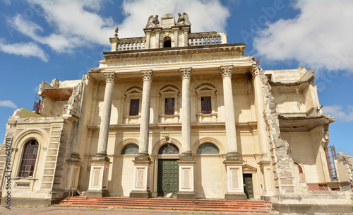
{"type": "Polygon", "coordinates": [[[227,34],[213,32],[189,34],[189,45],[217,45],[227,43],[227,34]]]}

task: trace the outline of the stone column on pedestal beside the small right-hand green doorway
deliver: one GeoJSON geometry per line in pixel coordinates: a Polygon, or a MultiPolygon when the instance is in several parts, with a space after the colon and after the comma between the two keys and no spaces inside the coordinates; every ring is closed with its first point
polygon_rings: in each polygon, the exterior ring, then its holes
{"type": "Polygon", "coordinates": [[[225,132],[227,138],[227,156],[223,162],[227,170],[227,193],[225,199],[246,200],[243,187],[243,163],[240,161],[237,147],[237,132],[235,129],[234,103],[232,91],[232,65],[220,66],[223,79],[223,94],[225,99],[225,132]]]}

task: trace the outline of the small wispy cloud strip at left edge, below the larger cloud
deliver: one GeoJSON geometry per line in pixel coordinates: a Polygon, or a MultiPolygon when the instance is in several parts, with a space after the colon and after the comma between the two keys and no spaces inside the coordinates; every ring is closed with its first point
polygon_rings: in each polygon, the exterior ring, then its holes
{"type": "Polygon", "coordinates": [[[0,38],[0,51],[23,57],[39,57],[43,62],[48,62],[48,55],[35,42],[6,44],[5,40],[0,38]]]}

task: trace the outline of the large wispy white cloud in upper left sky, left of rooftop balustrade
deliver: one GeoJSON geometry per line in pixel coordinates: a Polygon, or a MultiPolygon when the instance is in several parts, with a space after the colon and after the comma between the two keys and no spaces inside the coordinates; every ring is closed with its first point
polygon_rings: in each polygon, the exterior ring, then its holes
{"type": "Polygon", "coordinates": [[[35,42],[48,45],[55,52],[73,52],[77,47],[109,45],[109,37],[114,35],[115,24],[112,18],[98,14],[99,2],[92,1],[30,1],[33,8],[40,6],[45,21],[54,32],[44,29],[17,14],[7,18],[7,23],[35,42]]]}

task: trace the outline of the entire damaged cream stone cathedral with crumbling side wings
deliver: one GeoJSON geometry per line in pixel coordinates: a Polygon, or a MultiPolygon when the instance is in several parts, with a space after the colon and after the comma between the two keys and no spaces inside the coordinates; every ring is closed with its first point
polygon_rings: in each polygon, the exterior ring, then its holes
{"type": "Polygon", "coordinates": [[[191,33],[186,13],[150,16],[143,30],[116,28],[98,68],[43,82],[34,110],[9,118],[1,204],[9,181],[12,204],[80,191],[352,211],[352,161],[328,148],[335,118],[313,69],[263,70],[225,33],[191,33]]]}

